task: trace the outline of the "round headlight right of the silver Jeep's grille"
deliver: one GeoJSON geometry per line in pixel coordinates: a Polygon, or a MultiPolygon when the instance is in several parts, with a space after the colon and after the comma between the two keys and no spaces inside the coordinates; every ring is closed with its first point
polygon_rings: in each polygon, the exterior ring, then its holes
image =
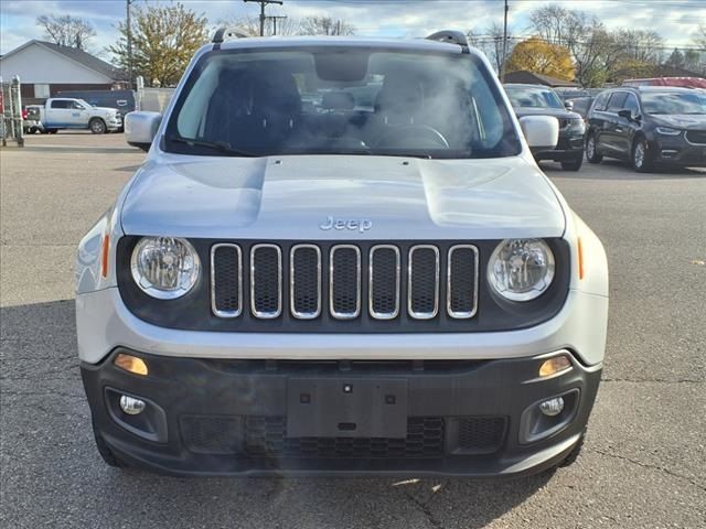
{"type": "Polygon", "coordinates": [[[541,239],[503,240],[488,263],[488,281],[495,292],[512,301],[542,295],[554,279],[554,253],[541,239]]]}

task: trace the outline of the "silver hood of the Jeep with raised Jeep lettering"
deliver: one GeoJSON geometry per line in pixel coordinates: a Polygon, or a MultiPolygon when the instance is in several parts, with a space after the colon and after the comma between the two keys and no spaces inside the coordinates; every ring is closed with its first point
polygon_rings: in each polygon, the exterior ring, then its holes
{"type": "Polygon", "coordinates": [[[127,235],[495,239],[558,237],[565,228],[554,187],[522,156],[157,160],[140,169],[126,194],[127,235]]]}

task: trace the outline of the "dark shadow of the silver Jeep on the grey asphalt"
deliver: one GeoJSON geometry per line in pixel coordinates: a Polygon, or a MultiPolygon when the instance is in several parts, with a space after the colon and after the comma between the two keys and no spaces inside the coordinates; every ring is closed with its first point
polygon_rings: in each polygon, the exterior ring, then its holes
{"type": "Polygon", "coordinates": [[[174,478],[100,460],[75,303],[0,307],[4,527],[484,527],[542,489],[518,479],[174,478]]]}

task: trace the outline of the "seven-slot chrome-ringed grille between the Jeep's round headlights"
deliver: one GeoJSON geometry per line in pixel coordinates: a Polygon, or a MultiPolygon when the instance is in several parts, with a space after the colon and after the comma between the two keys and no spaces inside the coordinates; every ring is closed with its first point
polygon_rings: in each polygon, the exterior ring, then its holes
{"type": "Polygon", "coordinates": [[[477,313],[478,290],[473,245],[211,247],[211,309],[222,319],[238,317],[249,307],[248,316],[256,320],[285,314],[296,320],[389,321],[403,310],[417,321],[467,320],[477,313]]]}

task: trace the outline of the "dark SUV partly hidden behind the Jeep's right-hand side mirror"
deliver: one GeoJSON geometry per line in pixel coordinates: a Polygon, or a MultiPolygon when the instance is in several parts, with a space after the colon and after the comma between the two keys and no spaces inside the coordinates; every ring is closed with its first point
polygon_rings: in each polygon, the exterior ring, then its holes
{"type": "Polygon", "coordinates": [[[544,85],[503,85],[517,118],[553,116],[559,120],[559,142],[555,149],[532,151],[534,159],[561,162],[567,171],[578,171],[584,162],[584,132],[580,115],[565,107],[556,91],[544,85]]]}

